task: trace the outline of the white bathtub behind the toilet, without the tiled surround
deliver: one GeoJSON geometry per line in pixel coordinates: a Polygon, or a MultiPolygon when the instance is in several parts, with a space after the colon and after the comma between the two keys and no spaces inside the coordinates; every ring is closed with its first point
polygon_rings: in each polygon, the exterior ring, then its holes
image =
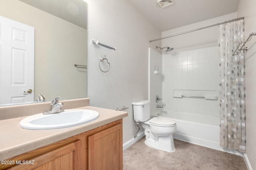
{"type": "Polygon", "coordinates": [[[237,150],[220,147],[219,117],[175,111],[161,111],[153,116],[170,118],[176,122],[174,139],[242,156],[237,150]]]}

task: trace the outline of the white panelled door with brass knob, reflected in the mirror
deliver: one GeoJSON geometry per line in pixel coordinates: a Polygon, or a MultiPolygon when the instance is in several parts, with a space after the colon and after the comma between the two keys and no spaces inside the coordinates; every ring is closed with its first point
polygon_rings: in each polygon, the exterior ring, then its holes
{"type": "Polygon", "coordinates": [[[34,27],[0,16],[0,105],[33,101],[34,27]]]}

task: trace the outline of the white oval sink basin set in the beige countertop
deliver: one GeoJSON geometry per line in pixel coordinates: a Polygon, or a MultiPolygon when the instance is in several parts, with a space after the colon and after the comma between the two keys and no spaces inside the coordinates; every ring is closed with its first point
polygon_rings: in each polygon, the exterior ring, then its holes
{"type": "Polygon", "coordinates": [[[24,129],[58,129],[82,125],[99,117],[99,113],[87,109],[66,109],[64,112],[43,115],[39,113],[26,117],[20,121],[20,127],[24,129]]]}

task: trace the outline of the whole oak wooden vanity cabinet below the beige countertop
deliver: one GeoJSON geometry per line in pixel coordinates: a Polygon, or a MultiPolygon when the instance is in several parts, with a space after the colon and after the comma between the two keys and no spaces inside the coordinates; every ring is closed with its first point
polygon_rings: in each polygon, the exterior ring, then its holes
{"type": "Polygon", "coordinates": [[[122,170],[122,157],[119,119],[10,158],[18,164],[2,164],[0,170],[122,170]]]}

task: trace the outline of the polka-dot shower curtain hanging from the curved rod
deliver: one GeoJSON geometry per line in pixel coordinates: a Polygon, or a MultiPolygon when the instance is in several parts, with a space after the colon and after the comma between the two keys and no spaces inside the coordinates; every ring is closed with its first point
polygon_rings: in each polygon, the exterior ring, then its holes
{"type": "Polygon", "coordinates": [[[244,20],[218,26],[220,146],[245,152],[245,53],[232,55],[239,41],[244,20]]]}

